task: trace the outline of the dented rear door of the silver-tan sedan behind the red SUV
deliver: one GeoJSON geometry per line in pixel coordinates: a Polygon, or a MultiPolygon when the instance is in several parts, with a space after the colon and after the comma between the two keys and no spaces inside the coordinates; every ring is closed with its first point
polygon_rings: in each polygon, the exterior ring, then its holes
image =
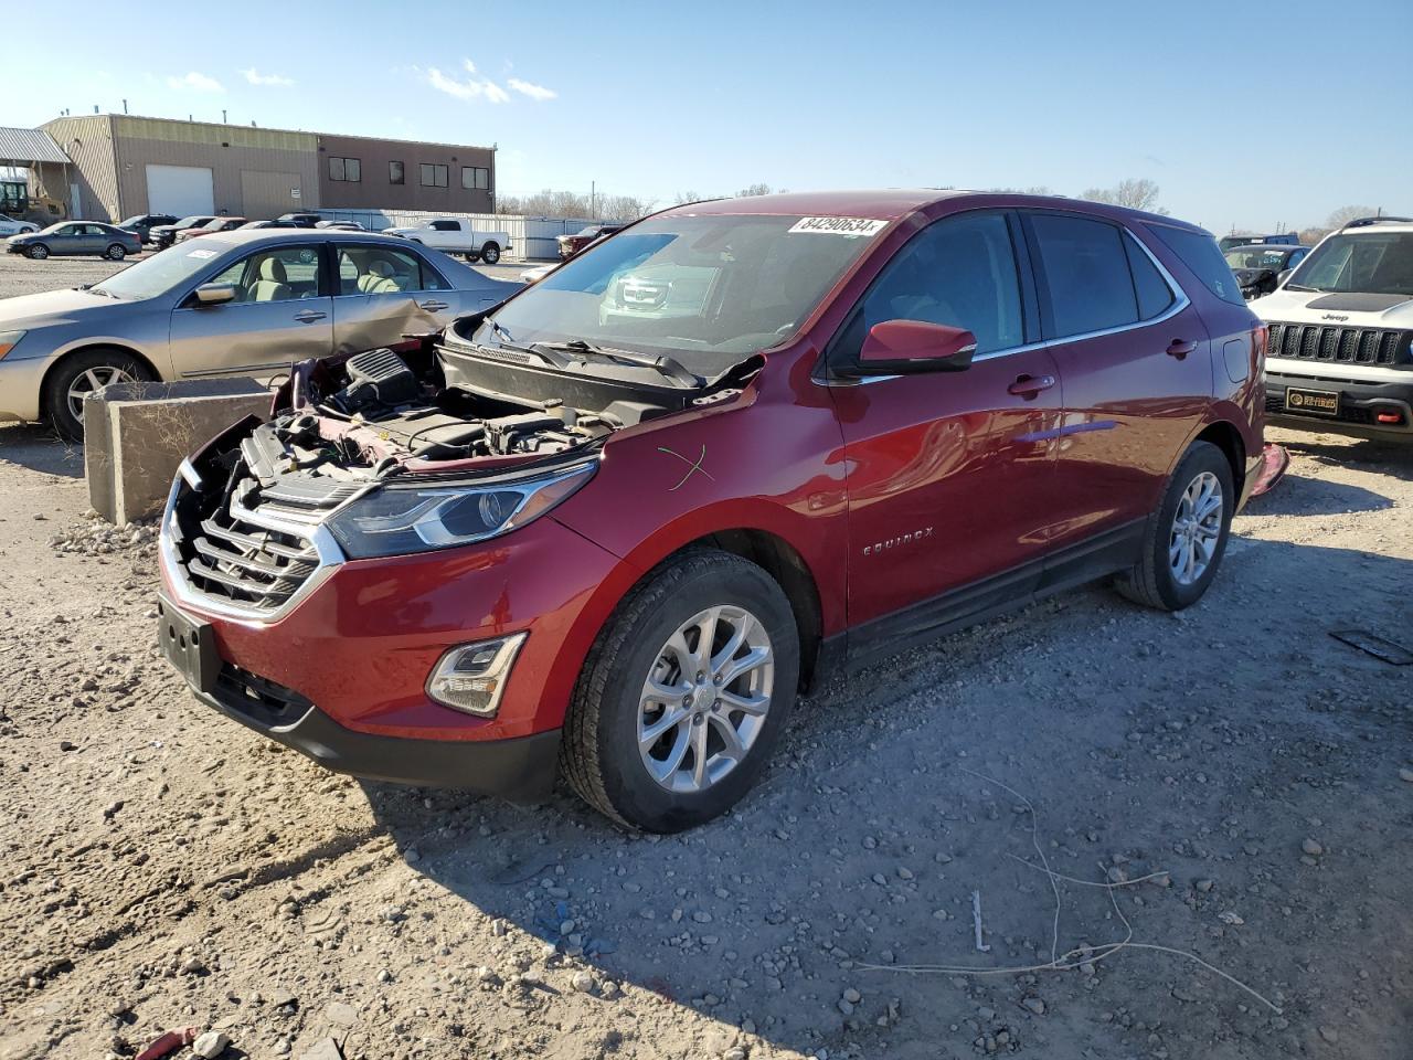
{"type": "MultiPolygon", "coordinates": [[[[356,353],[410,345],[407,335],[441,331],[459,297],[414,250],[333,243],[339,290],[333,298],[333,349],[356,353]]],[[[489,302],[487,302],[489,305],[489,302]]]]}

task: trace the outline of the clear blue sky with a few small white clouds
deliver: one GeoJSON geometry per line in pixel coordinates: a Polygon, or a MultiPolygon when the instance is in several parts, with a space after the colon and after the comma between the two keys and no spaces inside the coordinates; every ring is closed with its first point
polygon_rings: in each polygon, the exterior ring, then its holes
{"type": "Polygon", "coordinates": [[[1147,177],[1224,232],[1413,212],[1413,3],[68,3],[0,124],[131,113],[497,144],[503,194],[1147,177]],[[205,44],[209,41],[209,44],[205,44]]]}

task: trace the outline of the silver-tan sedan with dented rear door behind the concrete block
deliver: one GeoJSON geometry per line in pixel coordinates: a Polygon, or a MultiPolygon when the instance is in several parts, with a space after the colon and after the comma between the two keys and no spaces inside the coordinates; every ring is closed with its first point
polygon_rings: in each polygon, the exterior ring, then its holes
{"type": "Polygon", "coordinates": [[[203,236],[97,284],[0,300],[0,420],[48,418],[79,440],[83,394],[106,383],[268,377],[404,345],[519,287],[372,233],[203,236]]]}

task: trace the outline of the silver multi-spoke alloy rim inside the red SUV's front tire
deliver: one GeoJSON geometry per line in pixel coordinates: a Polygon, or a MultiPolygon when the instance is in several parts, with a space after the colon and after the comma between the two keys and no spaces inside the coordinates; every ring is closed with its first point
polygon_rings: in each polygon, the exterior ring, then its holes
{"type": "Polygon", "coordinates": [[[698,612],[657,653],[637,708],[643,766],[668,791],[702,791],[760,736],[774,687],[774,650],[745,608],[698,612]]]}

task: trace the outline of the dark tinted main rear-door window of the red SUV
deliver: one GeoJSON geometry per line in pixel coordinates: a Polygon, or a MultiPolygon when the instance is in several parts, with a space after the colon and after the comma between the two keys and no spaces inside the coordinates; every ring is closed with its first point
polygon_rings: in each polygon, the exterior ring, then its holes
{"type": "Polygon", "coordinates": [[[1033,213],[1030,225],[1053,338],[1137,322],[1137,295],[1118,226],[1063,213],[1033,213]]]}

